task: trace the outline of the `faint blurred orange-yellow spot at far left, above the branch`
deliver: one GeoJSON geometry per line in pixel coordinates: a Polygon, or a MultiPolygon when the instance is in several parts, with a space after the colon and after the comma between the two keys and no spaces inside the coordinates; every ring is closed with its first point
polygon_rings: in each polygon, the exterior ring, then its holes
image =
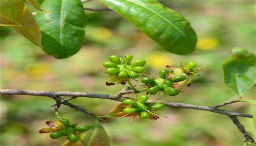
{"type": "Polygon", "coordinates": [[[27,69],[27,72],[32,77],[39,77],[47,74],[49,70],[50,66],[45,62],[36,62],[27,69]]]}

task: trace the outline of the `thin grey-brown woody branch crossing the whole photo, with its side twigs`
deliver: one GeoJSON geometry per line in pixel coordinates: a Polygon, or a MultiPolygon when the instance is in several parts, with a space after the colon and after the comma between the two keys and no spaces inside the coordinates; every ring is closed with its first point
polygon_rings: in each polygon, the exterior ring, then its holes
{"type": "MultiPolygon", "coordinates": [[[[60,104],[64,104],[71,108],[74,108],[77,111],[82,111],[84,114],[93,115],[93,116],[94,116],[93,113],[86,111],[84,108],[82,108],[79,105],[74,105],[74,104],[69,103],[68,100],[75,99],[76,97],[89,97],[89,98],[99,98],[99,99],[110,99],[110,100],[116,100],[116,101],[123,101],[123,100],[127,99],[128,97],[123,97],[122,95],[128,94],[128,93],[133,93],[133,90],[131,90],[131,87],[125,87],[120,92],[113,94],[113,95],[86,93],[86,92],[70,92],[70,91],[49,92],[49,91],[0,89],[0,95],[32,95],[32,96],[50,97],[56,101],[56,104],[53,105],[54,108],[59,108],[60,104]],[[63,99],[60,96],[68,96],[70,98],[63,99]]],[[[151,102],[151,101],[149,101],[149,102],[151,102]]],[[[239,113],[239,112],[232,112],[232,111],[225,111],[225,110],[218,109],[218,107],[221,107],[223,105],[238,102],[236,100],[221,103],[221,104],[215,105],[213,107],[206,107],[206,106],[185,104],[185,103],[171,103],[171,102],[167,102],[167,101],[154,101],[154,102],[161,102],[169,107],[204,110],[204,111],[210,111],[210,112],[215,112],[217,114],[229,116],[233,120],[233,122],[236,124],[238,129],[242,132],[246,141],[254,142],[253,138],[245,131],[244,126],[242,126],[242,124],[238,121],[238,119],[236,117],[236,116],[243,116],[243,117],[252,118],[251,114],[243,114],[243,113],[239,113]]]]}

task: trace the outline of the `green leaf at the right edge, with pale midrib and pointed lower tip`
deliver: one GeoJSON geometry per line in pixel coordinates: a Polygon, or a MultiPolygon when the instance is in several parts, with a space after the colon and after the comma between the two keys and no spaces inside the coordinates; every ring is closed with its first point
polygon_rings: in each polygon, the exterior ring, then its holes
{"type": "Polygon", "coordinates": [[[233,57],[223,64],[224,81],[227,87],[242,96],[255,84],[255,54],[243,48],[234,48],[233,57]],[[236,50],[242,52],[236,53],[236,50]]]}

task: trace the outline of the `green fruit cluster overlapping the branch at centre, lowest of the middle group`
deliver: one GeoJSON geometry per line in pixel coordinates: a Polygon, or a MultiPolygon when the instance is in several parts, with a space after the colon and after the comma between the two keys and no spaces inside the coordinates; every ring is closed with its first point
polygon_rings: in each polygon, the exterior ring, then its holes
{"type": "Polygon", "coordinates": [[[131,107],[124,108],[123,112],[125,114],[131,114],[133,112],[137,112],[139,117],[141,119],[147,119],[150,118],[150,111],[151,109],[158,109],[165,107],[162,103],[146,103],[148,100],[147,95],[140,95],[137,97],[137,101],[134,101],[132,99],[125,99],[123,102],[125,104],[131,105],[131,107]]]}

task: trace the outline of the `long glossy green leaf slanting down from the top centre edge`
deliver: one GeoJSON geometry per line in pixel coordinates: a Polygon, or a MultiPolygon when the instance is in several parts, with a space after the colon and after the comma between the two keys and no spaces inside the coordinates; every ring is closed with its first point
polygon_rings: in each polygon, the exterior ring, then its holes
{"type": "Polygon", "coordinates": [[[100,0],[166,51],[186,55],[195,50],[196,33],[176,11],[156,0],[100,0]]]}

